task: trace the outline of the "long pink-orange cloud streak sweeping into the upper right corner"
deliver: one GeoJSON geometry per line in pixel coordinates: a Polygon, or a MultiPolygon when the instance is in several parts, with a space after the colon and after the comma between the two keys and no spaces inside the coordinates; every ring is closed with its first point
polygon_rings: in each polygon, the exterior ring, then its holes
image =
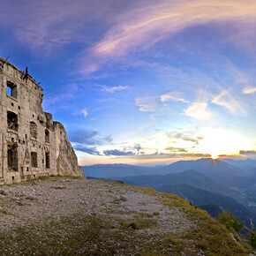
{"type": "Polygon", "coordinates": [[[104,39],[94,45],[93,51],[98,56],[124,56],[132,49],[141,49],[141,45],[147,49],[187,26],[214,21],[245,22],[255,17],[256,3],[252,0],[149,2],[121,13],[117,19],[118,25],[113,26],[104,39]]]}

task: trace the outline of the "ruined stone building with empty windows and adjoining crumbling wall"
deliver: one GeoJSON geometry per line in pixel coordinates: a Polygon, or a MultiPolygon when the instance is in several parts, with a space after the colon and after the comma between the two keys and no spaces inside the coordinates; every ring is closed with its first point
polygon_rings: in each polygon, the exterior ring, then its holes
{"type": "Polygon", "coordinates": [[[0,184],[49,175],[83,177],[64,125],[43,112],[43,89],[0,57],[0,184]]]}

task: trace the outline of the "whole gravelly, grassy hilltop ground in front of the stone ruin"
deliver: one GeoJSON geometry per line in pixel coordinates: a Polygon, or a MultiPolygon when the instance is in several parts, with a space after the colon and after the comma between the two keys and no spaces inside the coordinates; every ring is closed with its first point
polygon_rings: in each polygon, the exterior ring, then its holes
{"type": "Polygon", "coordinates": [[[49,177],[4,185],[0,213],[0,250],[5,255],[251,252],[177,196],[122,183],[49,177]]]}

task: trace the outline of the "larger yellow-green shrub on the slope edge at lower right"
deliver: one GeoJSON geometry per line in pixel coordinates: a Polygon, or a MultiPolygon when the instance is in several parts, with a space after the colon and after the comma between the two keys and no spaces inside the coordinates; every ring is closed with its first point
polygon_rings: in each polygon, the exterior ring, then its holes
{"type": "Polygon", "coordinates": [[[227,211],[222,211],[219,215],[219,222],[225,225],[229,230],[233,229],[237,232],[244,230],[245,228],[245,222],[240,222],[235,215],[232,215],[227,211]]]}

